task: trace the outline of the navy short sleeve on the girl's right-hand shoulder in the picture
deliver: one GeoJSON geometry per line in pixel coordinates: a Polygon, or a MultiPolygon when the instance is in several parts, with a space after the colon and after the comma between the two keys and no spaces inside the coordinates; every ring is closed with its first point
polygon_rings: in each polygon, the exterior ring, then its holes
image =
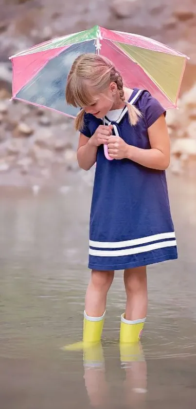
{"type": "Polygon", "coordinates": [[[142,112],[149,128],[162,114],[166,116],[166,111],[160,102],[152,97],[149,92],[143,95],[142,112]]]}

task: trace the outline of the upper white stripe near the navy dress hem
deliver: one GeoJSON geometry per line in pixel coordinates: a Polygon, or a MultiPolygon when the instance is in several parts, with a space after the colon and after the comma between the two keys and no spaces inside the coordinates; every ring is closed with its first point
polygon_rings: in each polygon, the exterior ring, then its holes
{"type": "Polygon", "coordinates": [[[175,232],[153,234],[147,237],[135,238],[125,241],[93,241],[89,240],[89,246],[101,249],[120,249],[122,247],[137,246],[139,244],[149,243],[151,241],[162,240],[166,238],[176,238],[175,232]]]}

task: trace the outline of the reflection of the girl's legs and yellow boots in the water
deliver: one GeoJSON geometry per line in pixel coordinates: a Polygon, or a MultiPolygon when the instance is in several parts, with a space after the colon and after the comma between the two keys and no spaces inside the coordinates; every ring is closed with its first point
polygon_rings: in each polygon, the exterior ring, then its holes
{"type": "MultiPolygon", "coordinates": [[[[147,392],[147,367],[142,345],[120,345],[119,365],[120,362],[122,370],[125,371],[125,380],[122,381],[122,405],[139,408],[144,404],[147,392]]],[[[111,402],[110,384],[106,377],[101,343],[84,350],[84,379],[92,407],[102,407],[111,402]]]]}

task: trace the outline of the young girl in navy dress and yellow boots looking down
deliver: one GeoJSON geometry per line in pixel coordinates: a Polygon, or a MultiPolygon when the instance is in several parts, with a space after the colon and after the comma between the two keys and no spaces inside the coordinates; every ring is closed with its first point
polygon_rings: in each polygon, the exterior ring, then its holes
{"type": "Polygon", "coordinates": [[[147,312],[146,266],[177,258],[165,110],[148,91],[125,88],[113,63],[90,53],[73,62],[66,100],[81,108],[78,164],[89,170],[96,162],[83,342],[101,339],[115,270],[124,270],[127,297],[120,341],[138,342],[147,312]]]}

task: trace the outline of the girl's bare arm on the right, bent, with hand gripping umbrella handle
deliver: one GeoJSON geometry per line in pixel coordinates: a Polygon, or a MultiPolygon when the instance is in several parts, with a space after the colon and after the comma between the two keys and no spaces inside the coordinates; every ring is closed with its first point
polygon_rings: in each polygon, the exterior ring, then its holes
{"type": "Polygon", "coordinates": [[[122,138],[111,137],[108,153],[114,159],[127,158],[146,168],[165,170],[170,163],[170,138],[165,117],[162,114],[148,128],[151,149],[137,148],[128,145],[122,138]]]}

